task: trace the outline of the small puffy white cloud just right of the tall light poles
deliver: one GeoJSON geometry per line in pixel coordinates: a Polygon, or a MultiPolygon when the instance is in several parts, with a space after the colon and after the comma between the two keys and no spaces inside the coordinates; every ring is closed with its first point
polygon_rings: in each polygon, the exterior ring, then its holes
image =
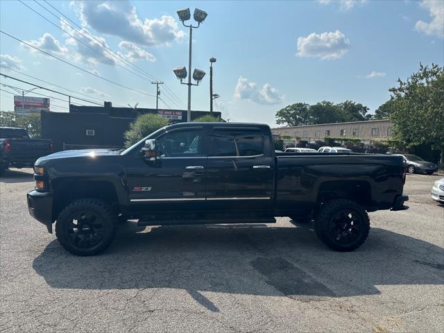
{"type": "Polygon", "coordinates": [[[285,96],[280,95],[278,89],[265,83],[259,89],[254,82],[248,82],[247,78],[239,77],[234,88],[234,99],[253,101],[257,104],[279,104],[284,101],[285,96]]]}

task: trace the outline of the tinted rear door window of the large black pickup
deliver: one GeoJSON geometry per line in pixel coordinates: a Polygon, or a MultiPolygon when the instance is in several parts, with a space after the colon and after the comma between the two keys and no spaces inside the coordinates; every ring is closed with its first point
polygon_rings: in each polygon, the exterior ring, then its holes
{"type": "Polygon", "coordinates": [[[253,156],[264,153],[259,130],[214,130],[210,134],[209,156],[253,156]]]}

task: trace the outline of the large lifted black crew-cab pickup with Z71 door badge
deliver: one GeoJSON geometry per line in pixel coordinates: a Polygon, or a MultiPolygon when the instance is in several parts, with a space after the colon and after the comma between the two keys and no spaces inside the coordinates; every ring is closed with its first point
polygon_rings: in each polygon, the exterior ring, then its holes
{"type": "Polygon", "coordinates": [[[334,250],[364,243],[367,212],[407,209],[402,157],[275,153],[268,126],[179,123],[122,151],[62,151],[35,163],[31,215],[76,255],[139,225],[314,221],[334,250]]]}

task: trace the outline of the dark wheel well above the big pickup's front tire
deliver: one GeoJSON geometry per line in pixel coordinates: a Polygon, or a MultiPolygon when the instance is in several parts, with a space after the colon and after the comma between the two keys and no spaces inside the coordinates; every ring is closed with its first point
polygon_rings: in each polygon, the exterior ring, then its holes
{"type": "Polygon", "coordinates": [[[111,205],[119,202],[111,182],[103,181],[60,181],[54,185],[53,220],[69,203],[81,198],[96,198],[111,205]]]}

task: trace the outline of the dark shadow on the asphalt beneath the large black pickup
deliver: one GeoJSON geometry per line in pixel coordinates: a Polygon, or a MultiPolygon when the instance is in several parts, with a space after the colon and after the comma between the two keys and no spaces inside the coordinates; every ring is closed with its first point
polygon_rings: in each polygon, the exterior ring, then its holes
{"type": "Polygon", "coordinates": [[[185,289],[310,300],[379,293],[385,284],[444,284],[444,249],[373,228],[364,246],[337,253],[311,225],[162,226],[136,233],[124,225],[103,255],[76,257],[52,241],[33,268],[53,288],[185,289]]]}

